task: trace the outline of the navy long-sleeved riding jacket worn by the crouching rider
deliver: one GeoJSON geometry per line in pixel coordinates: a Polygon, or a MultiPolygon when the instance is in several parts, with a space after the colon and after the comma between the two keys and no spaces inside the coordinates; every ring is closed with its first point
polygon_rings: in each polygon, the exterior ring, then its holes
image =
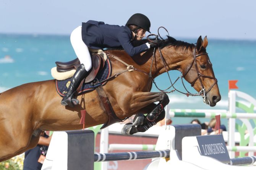
{"type": "Polygon", "coordinates": [[[148,49],[146,44],[137,47],[131,44],[132,32],[127,26],[109,25],[92,20],[82,23],[82,39],[89,48],[93,49],[122,46],[130,56],[148,49]]]}

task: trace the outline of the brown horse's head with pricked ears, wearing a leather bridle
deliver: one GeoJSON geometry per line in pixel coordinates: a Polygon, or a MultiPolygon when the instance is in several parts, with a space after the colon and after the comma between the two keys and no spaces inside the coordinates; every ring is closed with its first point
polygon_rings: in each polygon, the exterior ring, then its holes
{"type": "Polygon", "coordinates": [[[207,44],[207,37],[204,37],[204,40],[201,36],[198,38],[196,46],[192,48],[191,57],[186,57],[182,62],[181,71],[183,78],[202,95],[204,102],[210,106],[215,106],[220,101],[221,96],[212,63],[206,52],[207,44]]]}

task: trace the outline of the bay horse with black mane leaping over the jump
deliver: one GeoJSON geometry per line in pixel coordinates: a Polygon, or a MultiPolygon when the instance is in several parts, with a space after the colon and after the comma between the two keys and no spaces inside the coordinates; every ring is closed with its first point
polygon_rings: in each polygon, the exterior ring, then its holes
{"type": "MultiPolygon", "coordinates": [[[[207,44],[207,38],[202,40],[201,36],[196,45],[169,37],[161,47],[164,62],[157,50],[152,59],[153,49],[134,57],[124,50],[106,51],[140,70],[122,73],[103,86],[117,117],[125,119],[137,113],[152,113],[158,111],[159,106],[163,108],[167,105],[169,98],[166,93],[150,92],[152,78],[167,70],[181,71],[197,92],[205,88],[204,102],[215,106],[221,96],[206,53],[207,44]],[[159,103],[156,105],[154,102],[159,103]]],[[[126,69],[126,65],[109,58],[112,75],[126,69]]],[[[0,94],[0,162],[35,147],[43,130],[83,129],[83,125],[79,124],[81,110],[86,109],[85,127],[104,124],[109,119],[95,90],[79,95],[80,104],[74,108],[61,105],[61,100],[54,79],[23,84],[0,94]]],[[[154,119],[153,122],[157,121],[160,119],[154,119]]],[[[146,120],[143,124],[148,122],[146,120]]]]}

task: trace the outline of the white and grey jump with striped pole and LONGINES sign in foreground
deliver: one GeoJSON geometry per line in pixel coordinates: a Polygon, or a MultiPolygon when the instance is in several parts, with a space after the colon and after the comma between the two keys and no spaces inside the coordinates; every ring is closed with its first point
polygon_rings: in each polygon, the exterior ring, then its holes
{"type": "Polygon", "coordinates": [[[156,151],[94,154],[91,130],[54,132],[42,170],[94,170],[94,162],[152,159],[145,170],[250,170],[256,157],[229,159],[222,135],[201,136],[199,124],[163,126],[156,151]],[[170,157],[170,159],[165,159],[170,157]],[[230,164],[230,165],[228,165],[230,164]]]}

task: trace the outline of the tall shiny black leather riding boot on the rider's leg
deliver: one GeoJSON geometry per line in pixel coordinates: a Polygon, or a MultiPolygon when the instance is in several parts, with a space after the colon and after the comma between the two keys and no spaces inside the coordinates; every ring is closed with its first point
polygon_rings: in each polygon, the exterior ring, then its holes
{"type": "Polygon", "coordinates": [[[88,72],[84,68],[84,64],[81,64],[78,69],[76,70],[75,74],[73,75],[73,78],[71,80],[70,86],[68,87],[68,92],[65,94],[65,96],[62,99],[61,104],[66,106],[69,105],[70,107],[74,107],[74,105],[79,104],[79,100],[76,98],[73,98],[73,96],[76,96],[76,89],[80,85],[81,81],[86,78],[88,75],[88,72]]]}

